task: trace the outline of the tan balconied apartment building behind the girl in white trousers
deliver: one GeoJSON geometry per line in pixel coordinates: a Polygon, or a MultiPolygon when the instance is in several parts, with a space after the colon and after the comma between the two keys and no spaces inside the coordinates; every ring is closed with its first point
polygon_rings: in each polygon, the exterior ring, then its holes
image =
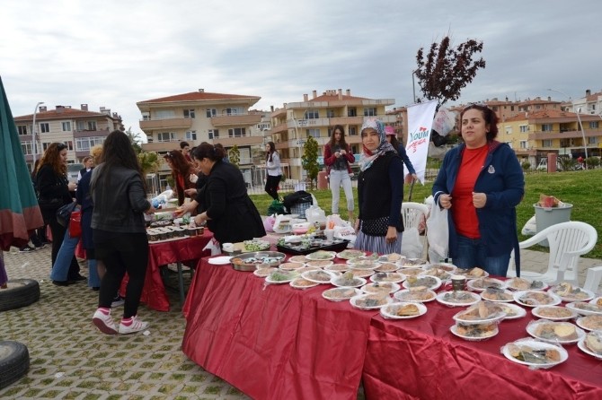
{"type": "MultiPolygon", "coordinates": [[[[288,178],[303,180],[305,170],[301,166],[303,146],[309,136],[319,144],[319,154],[331,137],[332,126],[345,128],[346,140],[350,143],[356,159],[361,150],[359,130],[367,117],[378,117],[385,124],[393,124],[395,116],[387,115],[385,108],[394,104],[394,99],[367,99],[351,95],[350,89],[323,91],[321,95],[312,91],[311,98],[303,95],[303,101],[284,103],[281,109],[271,112],[271,140],[276,144],[280,161],[288,164],[288,178]]],[[[323,162],[320,157],[321,163],[323,162]]]]}

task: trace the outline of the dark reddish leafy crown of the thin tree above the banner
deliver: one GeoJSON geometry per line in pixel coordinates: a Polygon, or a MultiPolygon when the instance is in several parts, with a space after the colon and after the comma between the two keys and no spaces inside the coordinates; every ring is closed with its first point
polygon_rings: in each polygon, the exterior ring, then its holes
{"type": "Polygon", "coordinates": [[[457,100],[462,88],[473,82],[476,71],[485,67],[482,58],[473,61],[475,54],[481,51],[482,41],[468,39],[454,48],[449,36],[440,43],[431,44],[426,55],[424,48],[420,48],[416,55],[418,69],[414,74],[424,97],[438,100],[439,105],[447,100],[457,100]]]}

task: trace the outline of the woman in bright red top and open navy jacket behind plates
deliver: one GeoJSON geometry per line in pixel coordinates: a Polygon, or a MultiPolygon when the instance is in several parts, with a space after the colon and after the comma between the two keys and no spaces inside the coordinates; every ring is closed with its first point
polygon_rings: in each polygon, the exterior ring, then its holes
{"type": "Polygon", "coordinates": [[[447,152],[433,185],[435,204],[449,209],[449,256],[460,268],[506,276],[514,249],[519,274],[516,206],[525,194],[523,170],[509,145],[494,140],[492,109],[470,105],[460,121],[464,143],[447,152]]]}

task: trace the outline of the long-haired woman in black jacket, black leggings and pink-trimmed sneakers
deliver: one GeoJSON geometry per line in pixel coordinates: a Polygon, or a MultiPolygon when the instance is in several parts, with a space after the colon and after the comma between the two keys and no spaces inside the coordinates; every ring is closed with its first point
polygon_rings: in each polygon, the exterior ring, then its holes
{"type": "Polygon", "coordinates": [[[93,324],[107,335],[132,334],[148,327],[137,318],[148,263],[144,214],[155,213],[146,200],[146,185],[128,135],[113,131],[103,144],[101,164],[93,170],[90,193],[96,258],[104,262],[98,309],[93,324]],[[111,317],[111,302],[128,273],[120,326],[111,317]]]}

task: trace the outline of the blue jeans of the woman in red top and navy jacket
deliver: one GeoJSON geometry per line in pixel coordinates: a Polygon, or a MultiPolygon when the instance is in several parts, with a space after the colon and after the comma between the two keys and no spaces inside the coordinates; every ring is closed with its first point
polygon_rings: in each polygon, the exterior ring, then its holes
{"type": "Polygon", "coordinates": [[[487,257],[487,248],[481,239],[470,239],[457,235],[456,257],[452,260],[458,268],[478,266],[489,274],[506,276],[510,262],[510,254],[487,257]]]}

